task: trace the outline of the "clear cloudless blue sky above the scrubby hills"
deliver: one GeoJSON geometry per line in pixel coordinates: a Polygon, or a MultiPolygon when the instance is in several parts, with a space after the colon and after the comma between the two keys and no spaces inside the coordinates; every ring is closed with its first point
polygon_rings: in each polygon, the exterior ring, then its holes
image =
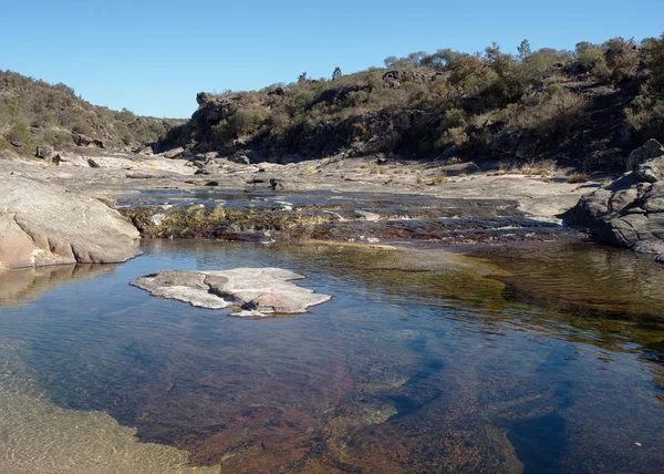
{"type": "Polygon", "coordinates": [[[349,73],[413,51],[658,37],[662,2],[7,1],[0,69],[64,82],[97,105],[188,117],[200,91],[330,76],[338,65],[349,73]]]}

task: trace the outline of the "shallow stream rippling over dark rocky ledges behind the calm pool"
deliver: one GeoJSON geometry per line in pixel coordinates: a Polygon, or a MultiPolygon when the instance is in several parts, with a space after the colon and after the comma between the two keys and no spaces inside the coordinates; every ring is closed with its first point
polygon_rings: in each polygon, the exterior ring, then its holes
{"type": "Polygon", "coordinates": [[[162,216],[164,209],[188,215],[218,206],[226,213],[226,220],[186,219],[184,225],[162,229],[158,237],[255,241],[266,237],[283,240],[281,236],[335,241],[378,239],[471,245],[553,240],[575,235],[556,223],[526,216],[517,209],[518,203],[509,199],[443,199],[416,194],[320,189],[242,192],[209,187],[137,190],[118,199],[118,206],[129,215],[141,208],[149,208],[162,216]]]}

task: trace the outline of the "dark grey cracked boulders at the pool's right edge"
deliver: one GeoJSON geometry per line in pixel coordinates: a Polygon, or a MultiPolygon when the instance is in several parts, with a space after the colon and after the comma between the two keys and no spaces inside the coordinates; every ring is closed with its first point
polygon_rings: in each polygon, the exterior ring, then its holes
{"type": "Polygon", "coordinates": [[[568,220],[602,243],[664,262],[664,148],[654,140],[630,155],[631,171],[579,199],[568,220]]]}

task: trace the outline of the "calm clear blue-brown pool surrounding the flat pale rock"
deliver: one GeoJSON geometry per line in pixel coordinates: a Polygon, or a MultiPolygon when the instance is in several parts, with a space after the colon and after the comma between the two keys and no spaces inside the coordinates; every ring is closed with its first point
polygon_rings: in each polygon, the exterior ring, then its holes
{"type": "MultiPolygon", "coordinates": [[[[630,254],[557,245],[477,262],[334,246],[144,250],[113,274],[1,308],[0,389],[70,415],[106,412],[144,442],[230,472],[657,472],[664,462],[664,278],[630,254]],[[238,266],[289,268],[334,298],[255,320],[127,285],[238,266]]],[[[50,433],[55,422],[35,413],[50,433]]],[[[112,439],[102,424],[83,430],[112,439]]],[[[49,436],[10,436],[23,429],[0,421],[0,445],[43,453],[49,436]]]]}

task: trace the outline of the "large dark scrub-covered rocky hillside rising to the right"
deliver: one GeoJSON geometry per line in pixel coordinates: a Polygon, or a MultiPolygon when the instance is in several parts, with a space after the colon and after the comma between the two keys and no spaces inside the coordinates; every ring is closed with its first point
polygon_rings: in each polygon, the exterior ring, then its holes
{"type": "Polygon", "coordinates": [[[392,154],[411,158],[552,158],[621,169],[631,150],[664,138],[664,35],[581,42],[574,51],[388,58],[333,79],[303,73],[260,91],[199,93],[165,145],[251,161],[392,154]]]}

